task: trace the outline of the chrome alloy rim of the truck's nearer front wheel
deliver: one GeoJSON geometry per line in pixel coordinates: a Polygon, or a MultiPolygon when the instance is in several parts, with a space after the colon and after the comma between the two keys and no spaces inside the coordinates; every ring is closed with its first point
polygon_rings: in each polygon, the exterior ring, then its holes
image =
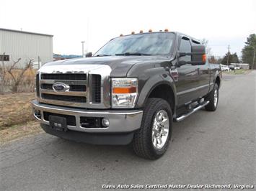
{"type": "Polygon", "coordinates": [[[162,149],[169,135],[169,116],[166,111],[160,110],[154,117],[152,127],[152,143],[155,149],[162,149]]]}

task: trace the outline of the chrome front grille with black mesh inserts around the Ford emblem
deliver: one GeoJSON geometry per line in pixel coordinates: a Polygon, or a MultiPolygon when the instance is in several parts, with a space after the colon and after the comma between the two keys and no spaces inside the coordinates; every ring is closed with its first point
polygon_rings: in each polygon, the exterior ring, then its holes
{"type": "Polygon", "coordinates": [[[107,65],[41,67],[37,75],[37,100],[57,106],[110,108],[110,72],[107,65]],[[68,88],[53,89],[55,83],[68,88]]]}

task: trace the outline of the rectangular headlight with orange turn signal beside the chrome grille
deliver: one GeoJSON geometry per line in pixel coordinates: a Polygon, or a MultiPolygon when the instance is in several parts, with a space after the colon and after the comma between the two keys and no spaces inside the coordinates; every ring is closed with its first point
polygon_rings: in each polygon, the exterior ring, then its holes
{"type": "Polygon", "coordinates": [[[112,78],[112,108],[134,108],[137,95],[137,78],[112,78]]]}

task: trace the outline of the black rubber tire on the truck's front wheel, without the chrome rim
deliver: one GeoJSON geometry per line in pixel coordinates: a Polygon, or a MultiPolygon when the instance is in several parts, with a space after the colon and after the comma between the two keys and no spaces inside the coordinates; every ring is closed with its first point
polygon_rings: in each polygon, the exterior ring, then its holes
{"type": "MultiPolygon", "coordinates": [[[[144,115],[141,121],[141,128],[133,136],[133,151],[145,159],[158,159],[167,151],[172,137],[172,109],[167,101],[160,98],[149,98],[144,108],[144,115]],[[169,133],[162,148],[156,149],[153,145],[153,124],[156,113],[165,111],[169,118],[169,133]]],[[[162,135],[161,135],[162,139],[162,135]]],[[[156,144],[158,144],[157,140],[156,144]]]]}

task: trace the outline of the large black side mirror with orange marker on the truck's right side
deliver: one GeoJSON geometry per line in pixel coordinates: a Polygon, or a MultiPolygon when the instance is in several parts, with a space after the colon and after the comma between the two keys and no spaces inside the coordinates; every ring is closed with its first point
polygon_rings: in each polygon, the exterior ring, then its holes
{"type": "Polygon", "coordinates": [[[191,56],[190,62],[180,61],[179,65],[204,65],[206,63],[206,47],[203,45],[195,45],[191,47],[191,52],[179,52],[178,57],[191,56]]]}

